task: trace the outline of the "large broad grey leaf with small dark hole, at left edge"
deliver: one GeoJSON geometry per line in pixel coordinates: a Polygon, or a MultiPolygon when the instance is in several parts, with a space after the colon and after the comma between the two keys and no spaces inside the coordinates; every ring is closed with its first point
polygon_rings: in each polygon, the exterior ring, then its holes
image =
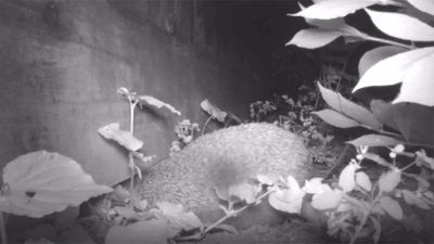
{"type": "Polygon", "coordinates": [[[73,159],[39,151],[22,155],[4,167],[0,209],[40,218],[111,191],[97,184],[73,159]]]}

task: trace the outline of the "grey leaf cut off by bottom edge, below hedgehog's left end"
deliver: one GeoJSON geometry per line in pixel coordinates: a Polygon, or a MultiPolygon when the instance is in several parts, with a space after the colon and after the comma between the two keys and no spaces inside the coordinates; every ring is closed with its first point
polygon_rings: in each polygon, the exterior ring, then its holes
{"type": "Polygon", "coordinates": [[[167,220],[153,219],[139,221],[128,226],[114,226],[105,237],[107,244],[166,244],[167,239],[176,234],[170,231],[167,220]]]}

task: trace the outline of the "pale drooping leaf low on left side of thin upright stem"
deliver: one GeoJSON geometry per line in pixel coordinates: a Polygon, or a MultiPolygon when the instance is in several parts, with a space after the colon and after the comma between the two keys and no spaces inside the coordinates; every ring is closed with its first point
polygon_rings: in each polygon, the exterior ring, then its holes
{"type": "Polygon", "coordinates": [[[113,123],[98,129],[98,132],[105,139],[111,139],[119,143],[129,151],[138,151],[143,146],[143,142],[135,138],[131,132],[122,130],[118,123],[113,123]]]}

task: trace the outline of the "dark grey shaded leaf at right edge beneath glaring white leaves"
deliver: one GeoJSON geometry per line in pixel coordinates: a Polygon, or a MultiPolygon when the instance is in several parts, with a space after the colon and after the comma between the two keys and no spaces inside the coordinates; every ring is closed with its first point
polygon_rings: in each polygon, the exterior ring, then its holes
{"type": "Polygon", "coordinates": [[[434,107],[373,100],[371,110],[380,121],[399,131],[407,142],[434,145],[434,107]]]}

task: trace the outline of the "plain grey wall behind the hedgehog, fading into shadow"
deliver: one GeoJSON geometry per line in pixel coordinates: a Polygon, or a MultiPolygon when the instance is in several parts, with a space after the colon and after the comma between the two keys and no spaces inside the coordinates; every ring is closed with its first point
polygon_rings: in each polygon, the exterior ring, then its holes
{"type": "Polygon", "coordinates": [[[114,121],[128,129],[119,87],[182,113],[137,112],[136,137],[158,158],[167,156],[177,121],[203,125],[204,99],[246,118],[248,103],[269,91],[264,65],[231,40],[233,8],[213,4],[0,0],[1,166],[47,150],[74,158],[99,183],[124,180],[126,152],[97,132],[114,121]]]}

